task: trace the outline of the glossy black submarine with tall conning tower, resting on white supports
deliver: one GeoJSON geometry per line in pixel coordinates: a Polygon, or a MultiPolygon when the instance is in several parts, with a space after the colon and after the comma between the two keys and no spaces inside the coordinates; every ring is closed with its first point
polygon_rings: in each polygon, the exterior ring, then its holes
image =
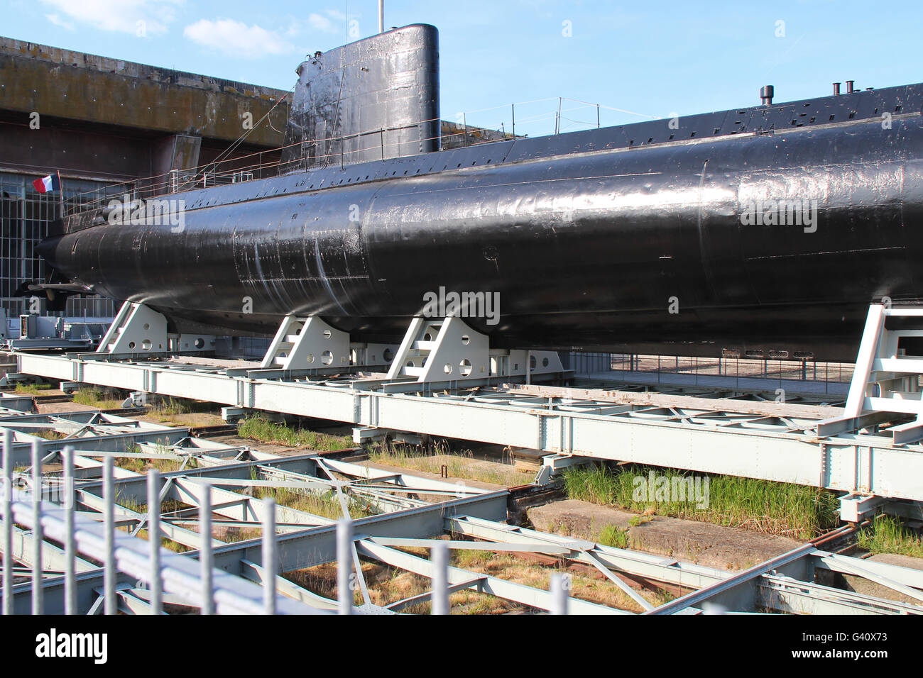
{"type": "Polygon", "coordinates": [[[869,303],[923,301],[923,84],[439,150],[434,27],[299,76],[279,175],[164,196],[181,230],[67,217],[33,292],[397,342],[442,288],[498,294],[494,323],[466,318],[498,348],[830,361],[869,303]]]}

